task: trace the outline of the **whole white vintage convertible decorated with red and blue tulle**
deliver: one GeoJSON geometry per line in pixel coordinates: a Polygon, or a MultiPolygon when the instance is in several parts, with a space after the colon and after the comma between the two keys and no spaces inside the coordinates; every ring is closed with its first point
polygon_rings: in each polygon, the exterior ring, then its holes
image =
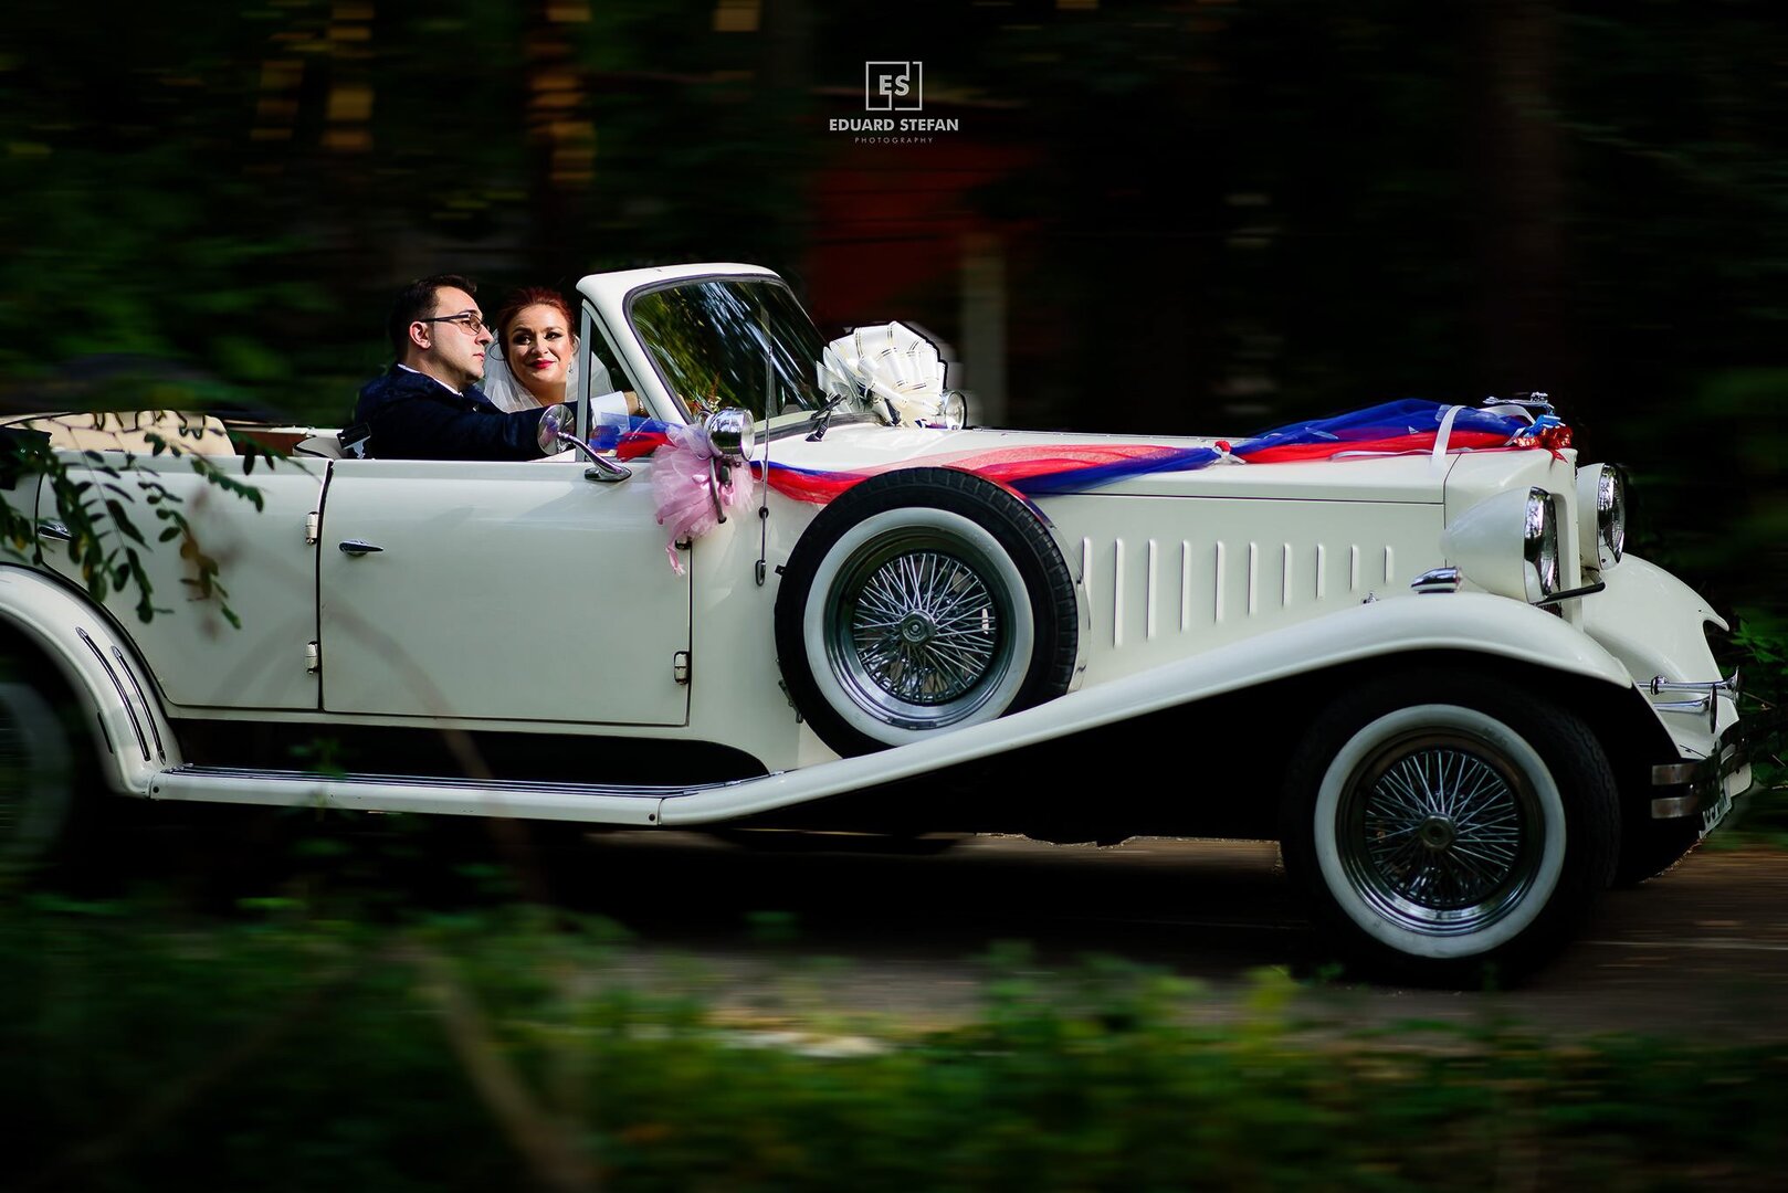
{"type": "Polygon", "coordinates": [[[1724,622],[1624,558],[1620,472],[1541,395],[1230,440],[982,429],[923,336],[826,343],[769,270],[579,293],[538,461],[331,431],[243,476],[215,422],[179,456],[84,431],[70,476],[191,528],[139,549],[150,621],[132,585],[89,597],[14,476],[39,549],[0,565],[7,848],[54,839],[88,764],[147,801],[1277,839],[1345,955],[1472,982],[1750,785],[1724,622]],[[200,551],[240,628],[181,596],[200,551]]]}

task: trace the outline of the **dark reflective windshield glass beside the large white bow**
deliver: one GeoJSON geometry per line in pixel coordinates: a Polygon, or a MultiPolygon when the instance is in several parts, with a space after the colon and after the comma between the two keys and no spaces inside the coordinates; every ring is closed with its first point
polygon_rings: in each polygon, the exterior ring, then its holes
{"type": "MultiPolygon", "coordinates": [[[[715,277],[653,290],[628,315],[692,422],[724,406],[749,410],[758,422],[797,420],[826,404],[824,342],[776,279],[715,277]]],[[[853,397],[839,413],[851,411],[867,406],[853,397]]]]}

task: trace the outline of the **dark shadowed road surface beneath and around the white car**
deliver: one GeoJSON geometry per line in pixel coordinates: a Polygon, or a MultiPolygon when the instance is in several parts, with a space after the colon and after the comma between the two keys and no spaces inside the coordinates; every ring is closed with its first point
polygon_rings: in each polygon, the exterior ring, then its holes
{"type": "MultiPolygon", "coordinates": [[[[222,916],[270,893],[406,912],[513,898],[513,851],[483,825],[456,828],[447,848],[409,860],[359,842],[297,869],[204,833],[150,833],[120,878],[182,885],[222,916]],[[234,860],[218,866],[222,857],[234,860]]],[[[1271,842],[971,837],[935,857],[780,844],[594,833],[536,853],[522,885],[620,925],[628,944],[613,964],[628,982],[767,1023],[865,1014],[944,1025],[971,1014],[996,975],[1071,977],[1109,957],[1194,982],[1189,1014],[1214,1021],[1248,1014],[1266,975],[1295,978],[1293,1012],[1336,1030],[1423,1020],[1513,1021],[1564,1039],[1788,1039],[1788,851],[1770,846],[1702,848],[1661,878],[1611,891],[1581,937],[1516,989],[1457,993],[1327,969],[1271,842]]]]}

